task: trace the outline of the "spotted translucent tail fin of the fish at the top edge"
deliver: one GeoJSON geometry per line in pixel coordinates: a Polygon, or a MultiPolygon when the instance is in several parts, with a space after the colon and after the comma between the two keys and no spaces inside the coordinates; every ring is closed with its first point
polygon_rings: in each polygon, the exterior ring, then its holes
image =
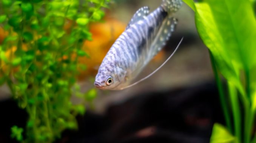
{"type": "Polygon", "coordinates": [[[182,5],[182,0],[163,0],[162,7],[168,14],[179,10],[182,5]]]}

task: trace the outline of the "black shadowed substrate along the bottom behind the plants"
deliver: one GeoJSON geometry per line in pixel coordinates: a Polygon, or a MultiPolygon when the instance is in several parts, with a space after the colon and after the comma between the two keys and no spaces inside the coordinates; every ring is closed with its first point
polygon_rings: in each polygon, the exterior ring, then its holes
{"type": "MultiPolygon", "coordinates": [[[[0,116],[0,142],[14,143],[10,128],[24,127],[27,114],[5,100],[0,116]]],[[[224,124],[214,82],[144,93],[77,120],[79,130],[64,131],[56,143],[209,143],[213,124],[224,124]]]]}

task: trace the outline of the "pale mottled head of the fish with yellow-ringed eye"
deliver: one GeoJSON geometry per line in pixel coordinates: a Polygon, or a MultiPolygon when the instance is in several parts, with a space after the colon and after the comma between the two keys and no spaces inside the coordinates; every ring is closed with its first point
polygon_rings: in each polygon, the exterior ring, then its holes
{"type": "Polygon", "coordinates": [[[95,77],[94,86],[103,90],[120,90],[125,81],[125,71],[119,67],[100,67],[95,77]]]}

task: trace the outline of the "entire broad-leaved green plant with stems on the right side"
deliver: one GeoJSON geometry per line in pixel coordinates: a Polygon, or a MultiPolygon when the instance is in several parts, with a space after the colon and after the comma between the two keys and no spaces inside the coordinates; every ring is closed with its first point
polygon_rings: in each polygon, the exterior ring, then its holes
{"type": "Polygon", "coordinates": [[[220,124],[214,125],[211,143],[255,143],[255,1],[184,2],[195,12],[197,31],[209,48],[227,125],[227,129],[220,124]],[[221,75],[226,86],[221,82],[221,75]]]}

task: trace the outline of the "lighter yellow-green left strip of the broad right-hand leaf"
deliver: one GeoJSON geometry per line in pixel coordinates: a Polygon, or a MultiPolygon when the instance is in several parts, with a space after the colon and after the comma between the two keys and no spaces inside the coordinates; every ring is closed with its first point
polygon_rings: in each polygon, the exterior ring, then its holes
{"type": "Polygon", "coordinates": [[[239,81],[239,68],[234,66],[234,63],[230,60],[230,54],[225,48],[225,41],[218,30],[219,23],[214,20],[214,12],[206,2],[196,3],[195,6],[197,31],[213,54],[217,68],[225,78],[232,81],[236,87],[239,87],[241,93],[244,93],[239,81]]]}

